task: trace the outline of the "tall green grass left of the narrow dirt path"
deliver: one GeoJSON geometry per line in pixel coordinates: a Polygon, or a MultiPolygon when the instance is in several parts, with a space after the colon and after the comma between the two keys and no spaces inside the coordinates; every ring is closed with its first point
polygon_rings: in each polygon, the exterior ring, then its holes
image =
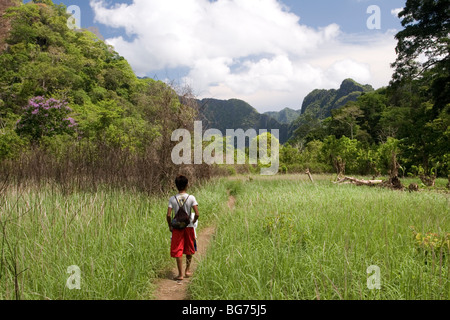
{"type": "MultiPolygon", "coordinates": [[[[225,205],[226,192],[217,183],[192,193],[202,227],[225,205]]],[[[107,187],[65,194],[53,185],[4,190],[0,299],[152,298],[154,279],[173,264],[165,219],[169,195],[107,187]],[[80,290],[66,287],[72,265],[81,270],[80,290]]]]}

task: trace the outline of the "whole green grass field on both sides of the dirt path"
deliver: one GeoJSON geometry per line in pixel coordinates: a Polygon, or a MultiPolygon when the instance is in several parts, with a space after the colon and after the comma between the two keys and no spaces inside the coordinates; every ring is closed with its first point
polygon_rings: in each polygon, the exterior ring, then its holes
{"type": "MultiPolygon", "coordinates": [[[[450,255],[418,251],[410,229],[449,232],[448,194],[306,179],[221,179],[190,190],[200,228],[217,225],[192,298],[450,298],[450,255]],[[380,290],[367,288],[372,265],[380,290]]],[[[174,266],[168,196],[8,189],[0,197],[0,299],[151,299],[155,278],[174,266]],[[80,290],[66,287],[72,265],[81,270],[80,290]]]]}

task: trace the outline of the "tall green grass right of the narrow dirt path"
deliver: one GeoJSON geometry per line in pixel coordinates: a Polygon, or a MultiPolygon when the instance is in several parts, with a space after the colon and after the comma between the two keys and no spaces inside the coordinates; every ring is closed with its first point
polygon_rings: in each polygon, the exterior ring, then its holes
{"type": "Polygon", "coordinates": [[[410,226],[450,230],[448,194],[264,178],[236,209],[190,288],[194,299],[450,299],[449,254],[419,252],[410,226]],[[369,266],[381,289],[369,290],[369,266]]]}

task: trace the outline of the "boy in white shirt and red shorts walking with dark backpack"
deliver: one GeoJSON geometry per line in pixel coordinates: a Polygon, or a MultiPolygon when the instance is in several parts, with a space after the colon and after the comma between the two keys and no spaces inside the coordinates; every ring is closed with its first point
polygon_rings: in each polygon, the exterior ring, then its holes
{"type": "Polygon", "coordinates": [[[172,243],[170,246],[170,256],[175,258],[178,267],[178,276],[174,279],[181,281],[183,277],[183,254],[186,255],[186,270],[184,276],[189,278],[192,276],[191,263],[192,256],[196,251],[196,233],[195,229],[198,225],[198,203],[193,195],[186,193],[189,180],[185,176],[178,176],[175,179],[175,185],[179,193],[170,198],[169,209],[167,210],[167,223],[169,230],[172,232],[172,243]],[[178,212],[180,206],[183,206],[188,214],[191,215],[191,224],[184,230],[176,230],[172,227],[172,211],[174,215],[178,212]],[[192,213],[194,209],[195,214],[192,213]]]}

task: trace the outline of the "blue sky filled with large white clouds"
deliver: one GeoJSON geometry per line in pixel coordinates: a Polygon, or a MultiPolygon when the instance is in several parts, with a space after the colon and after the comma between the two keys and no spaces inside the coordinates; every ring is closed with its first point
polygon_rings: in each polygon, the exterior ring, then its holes
{"type": "Polygon", "coordinates": [[[97,27],[137,75],[265,112],[300,109],[311,90],[348,77],[387,85],[406,0],[54,2],[79,6],[81,27],[97,27]],[[379,29],[367,25],[373,5],[379,29]]]}

